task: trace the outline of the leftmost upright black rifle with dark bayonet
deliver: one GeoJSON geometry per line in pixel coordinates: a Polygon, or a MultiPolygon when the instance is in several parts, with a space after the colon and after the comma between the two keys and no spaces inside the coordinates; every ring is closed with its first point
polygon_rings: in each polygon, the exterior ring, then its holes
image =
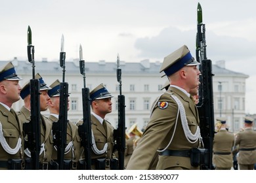
{"type": "Polygon", "coordinates": [[[30,122],[24,123],[24,133],[28,135],[26,147],[30,150],[32,167],[39,169],[39,154],[41,150],[41,114],[40,114],[40,90],[39,80],[35,79],[34,46],[32,45],[32,31],[28,25],[28,61],[32,63],[32,79],[30,80],[30,122]]]}

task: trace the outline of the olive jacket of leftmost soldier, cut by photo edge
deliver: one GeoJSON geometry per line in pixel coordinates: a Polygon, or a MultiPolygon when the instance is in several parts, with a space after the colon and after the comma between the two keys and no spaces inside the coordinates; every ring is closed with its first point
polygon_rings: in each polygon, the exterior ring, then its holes
{"type": "MultiPolygon", "coordinates": [[[[7,161],[8,159],[23,159],[24,158],[24,137],[22,134],[22,124],[18,120],[17,115],[14,110],[11,109],[14,114],[12,114],[7,108],[0,104],[0,122],[2,124],[3,137],[7,144],[11,148],[15,148],[18,142],[18,139],[22,139],[21,149],[18,150],[16,154],[9,154],[0,144],[0,161],[7,161]],[[15,115],[15,116],[14,116],[15,115]]],[[[1,168],[0,169],[7,169],[1,168]]]]}

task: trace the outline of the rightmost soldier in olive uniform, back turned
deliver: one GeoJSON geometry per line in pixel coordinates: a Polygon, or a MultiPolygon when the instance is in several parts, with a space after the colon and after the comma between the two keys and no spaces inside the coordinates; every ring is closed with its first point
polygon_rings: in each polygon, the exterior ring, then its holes
{"type": "Polygon", "coordinates": [[[244,131],[236,134],[238,164],[240,170],[253,170],[256,163],[256,131],[253,131],[253,118],[246,117],[244,131]]]}

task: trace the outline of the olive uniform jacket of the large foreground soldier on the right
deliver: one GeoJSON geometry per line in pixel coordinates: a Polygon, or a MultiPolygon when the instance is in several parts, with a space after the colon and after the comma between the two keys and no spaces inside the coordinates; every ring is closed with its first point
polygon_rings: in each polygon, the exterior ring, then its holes
{"type": "MultiPolygon", "coordinates": [[[[131,156],[127,169],[149,169],[150,163],[154,161],[153,158],[156,154],[156,150],[165,148],[171,141],[173,133],[173,140],[167,147],[168,150],[190,150],[191,148],[198,147],[198,141],[190,143],[186,139],[182,129],[180,114],[178,115],[176,130],[174,131],[178,105],[171,95],[177,96],[182,102],[186,112],[188,127],[192,134],[196,132],[199,125],[199,116],[194,101],[184,92],[181,92],[181,90],[169,87],[169,90],[163,93],[160,99],[158,99],[158,103],[154,105],[150,121],[137,148],[135,148],[131,156]],[[161,106],[159,102],[164,102],[165,105],[161,106]]],[[[199,169],[199,167],[190,165],[190,158],[178,156],[158,156],[158,158],[156,169],[173,169],[175,167],[181,167],[182,169],[199,169]]]]}

